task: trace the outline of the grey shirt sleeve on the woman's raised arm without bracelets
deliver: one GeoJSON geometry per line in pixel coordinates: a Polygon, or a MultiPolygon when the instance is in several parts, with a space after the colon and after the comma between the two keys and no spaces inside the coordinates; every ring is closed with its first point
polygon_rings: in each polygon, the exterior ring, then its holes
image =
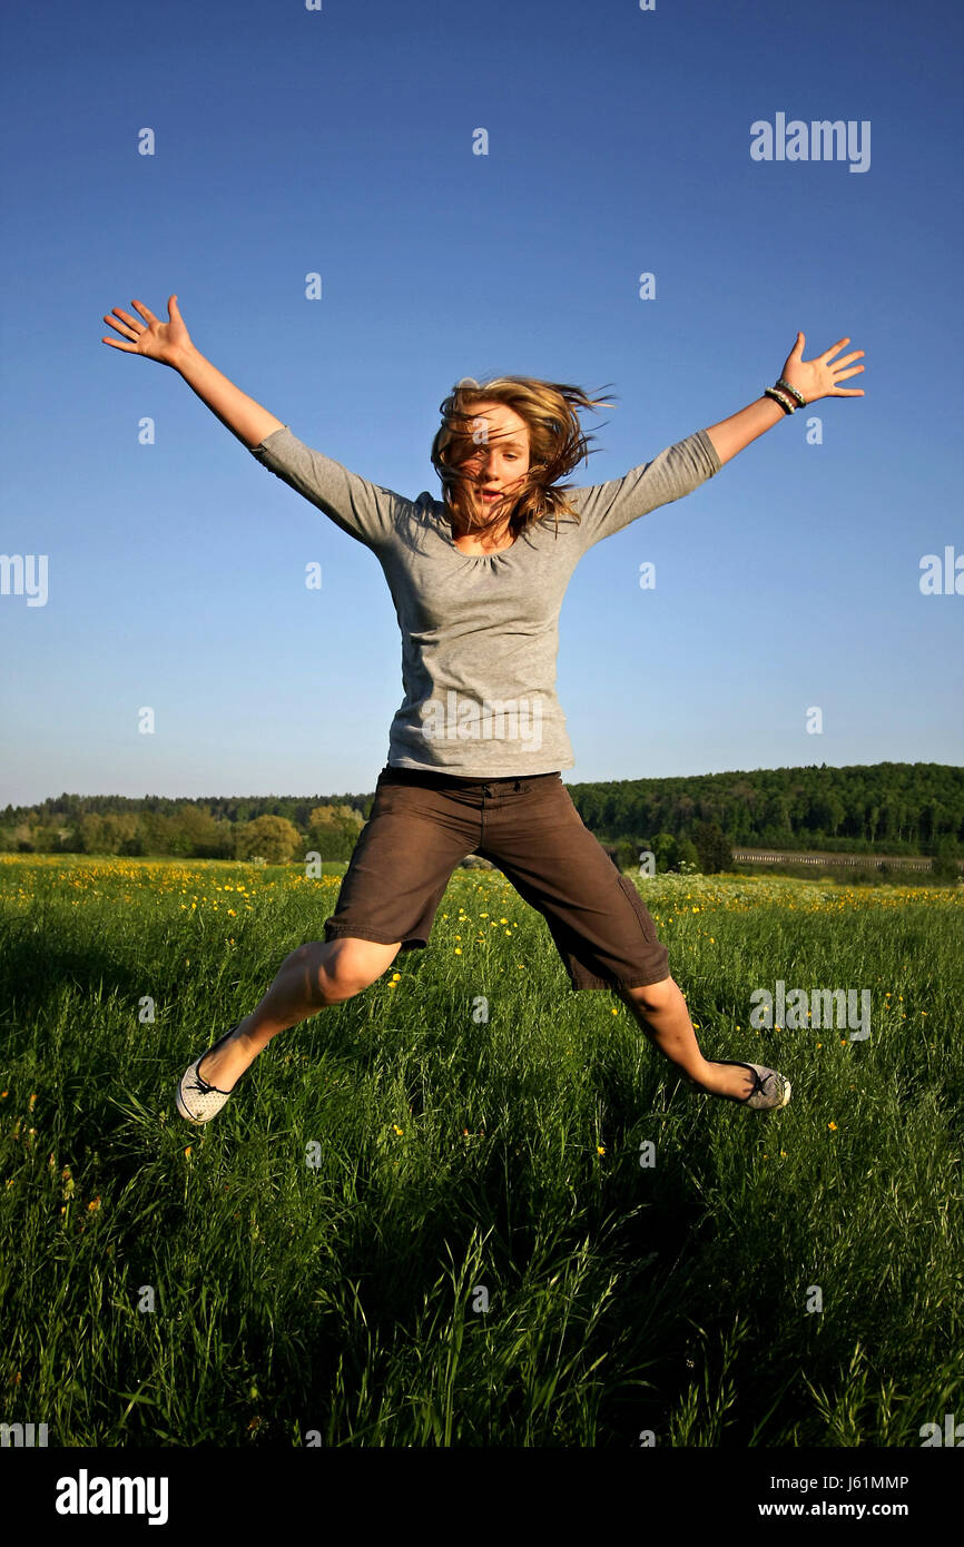
{"type": "Polygon", "coordinates": [[[305,446],[286,424],[272,430],[251,455],[367,548],[381,548],[396,531],[405,501],[393,489],[368,483],[323,452],[305,446]]]}

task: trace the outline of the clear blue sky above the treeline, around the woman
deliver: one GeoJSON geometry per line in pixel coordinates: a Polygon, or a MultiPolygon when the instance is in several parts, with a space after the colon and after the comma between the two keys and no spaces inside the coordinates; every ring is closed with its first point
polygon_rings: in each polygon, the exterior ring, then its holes
{"type": "Polygon", "coordinates": [[[374,555],[101,342],[111,306],[172,292],[244,391],[407,495],[439,493],[461,376],[611,382],[591,484],[752,402],[797,330],[806,357],[849,336],[867,396],[815,405],[822,446],[781,421],[576,569],[565,778],[964,761],[964,596],[919,589],[922,555],[964,554],[958,5],[99,0],[2,25],[0,552],[48,555],[48,600],[0,597],[0,804],[370,791],[385,763],[374,555]],[[754,161],[778,113],[870,121],[870,169],[754,161]]]}

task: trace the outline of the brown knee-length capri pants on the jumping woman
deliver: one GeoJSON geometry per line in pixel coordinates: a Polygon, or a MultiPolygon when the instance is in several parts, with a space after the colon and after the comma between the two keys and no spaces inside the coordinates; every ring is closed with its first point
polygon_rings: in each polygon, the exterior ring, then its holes
{"type": "Polygon", "coordinates": [[[628,876],[579,815],[562,774],[466,780],[385,766],[325,939],[429,944],[455,866],[478,854],[542,913],[573,990],[670,976],[668,951],[628,876]]]}

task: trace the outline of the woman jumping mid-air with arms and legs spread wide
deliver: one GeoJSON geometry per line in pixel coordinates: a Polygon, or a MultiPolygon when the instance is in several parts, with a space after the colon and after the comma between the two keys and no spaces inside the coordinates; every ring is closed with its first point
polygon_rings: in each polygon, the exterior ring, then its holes
{"type": "Polygon", "coordinates": [[[863,365],[849,339],[812,360],[797,334],[783,373],[755,402],[696,430],[624,478],[557,487],[588,455],[577,387],[500,376],[460,382],[441,405],[432,464],[443,500],[409,500],[368,483],[292,435],[192,343],[167,302],[161,322],[104,317],[115,350],[176,370],[257,459],[370,548],[402,633],[405,698],[388,736],[371,815],[342,880],[325,939],[291,951],[260,1004],[181,1077],[176,1105],[209,1122],[279,1032],[367,989],[399,950],[429,944],[455,866],[491,860],[542,913],[569,985],[608,989],[698,1091],[755,1111],[786,1106],[775,1069],[707,1060],[668,951],[633,882],[583,825],[562,769],[574,766],[555,698],[559,611],[582,555],[641,515],[679,500],[783,415],[819,398],[862,398],[839,384],[863,365]]]}

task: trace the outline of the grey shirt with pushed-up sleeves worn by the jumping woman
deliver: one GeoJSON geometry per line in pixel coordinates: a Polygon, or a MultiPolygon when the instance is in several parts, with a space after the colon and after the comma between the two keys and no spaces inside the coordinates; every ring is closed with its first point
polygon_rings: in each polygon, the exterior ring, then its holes
{"type": "Polygon", "coordinates": [[[723,466],[706,430],[611,483],[571,489],[579,521],[552,517],[495,554],[463,554],[446,506],[368,483],[291,427],[252,456],[371,548],[402,633],[405,698],[388,732],[388,764],[461,778],[506,778],[574,766],[555,698],[559,611],[582,555],[723,466]]]}

